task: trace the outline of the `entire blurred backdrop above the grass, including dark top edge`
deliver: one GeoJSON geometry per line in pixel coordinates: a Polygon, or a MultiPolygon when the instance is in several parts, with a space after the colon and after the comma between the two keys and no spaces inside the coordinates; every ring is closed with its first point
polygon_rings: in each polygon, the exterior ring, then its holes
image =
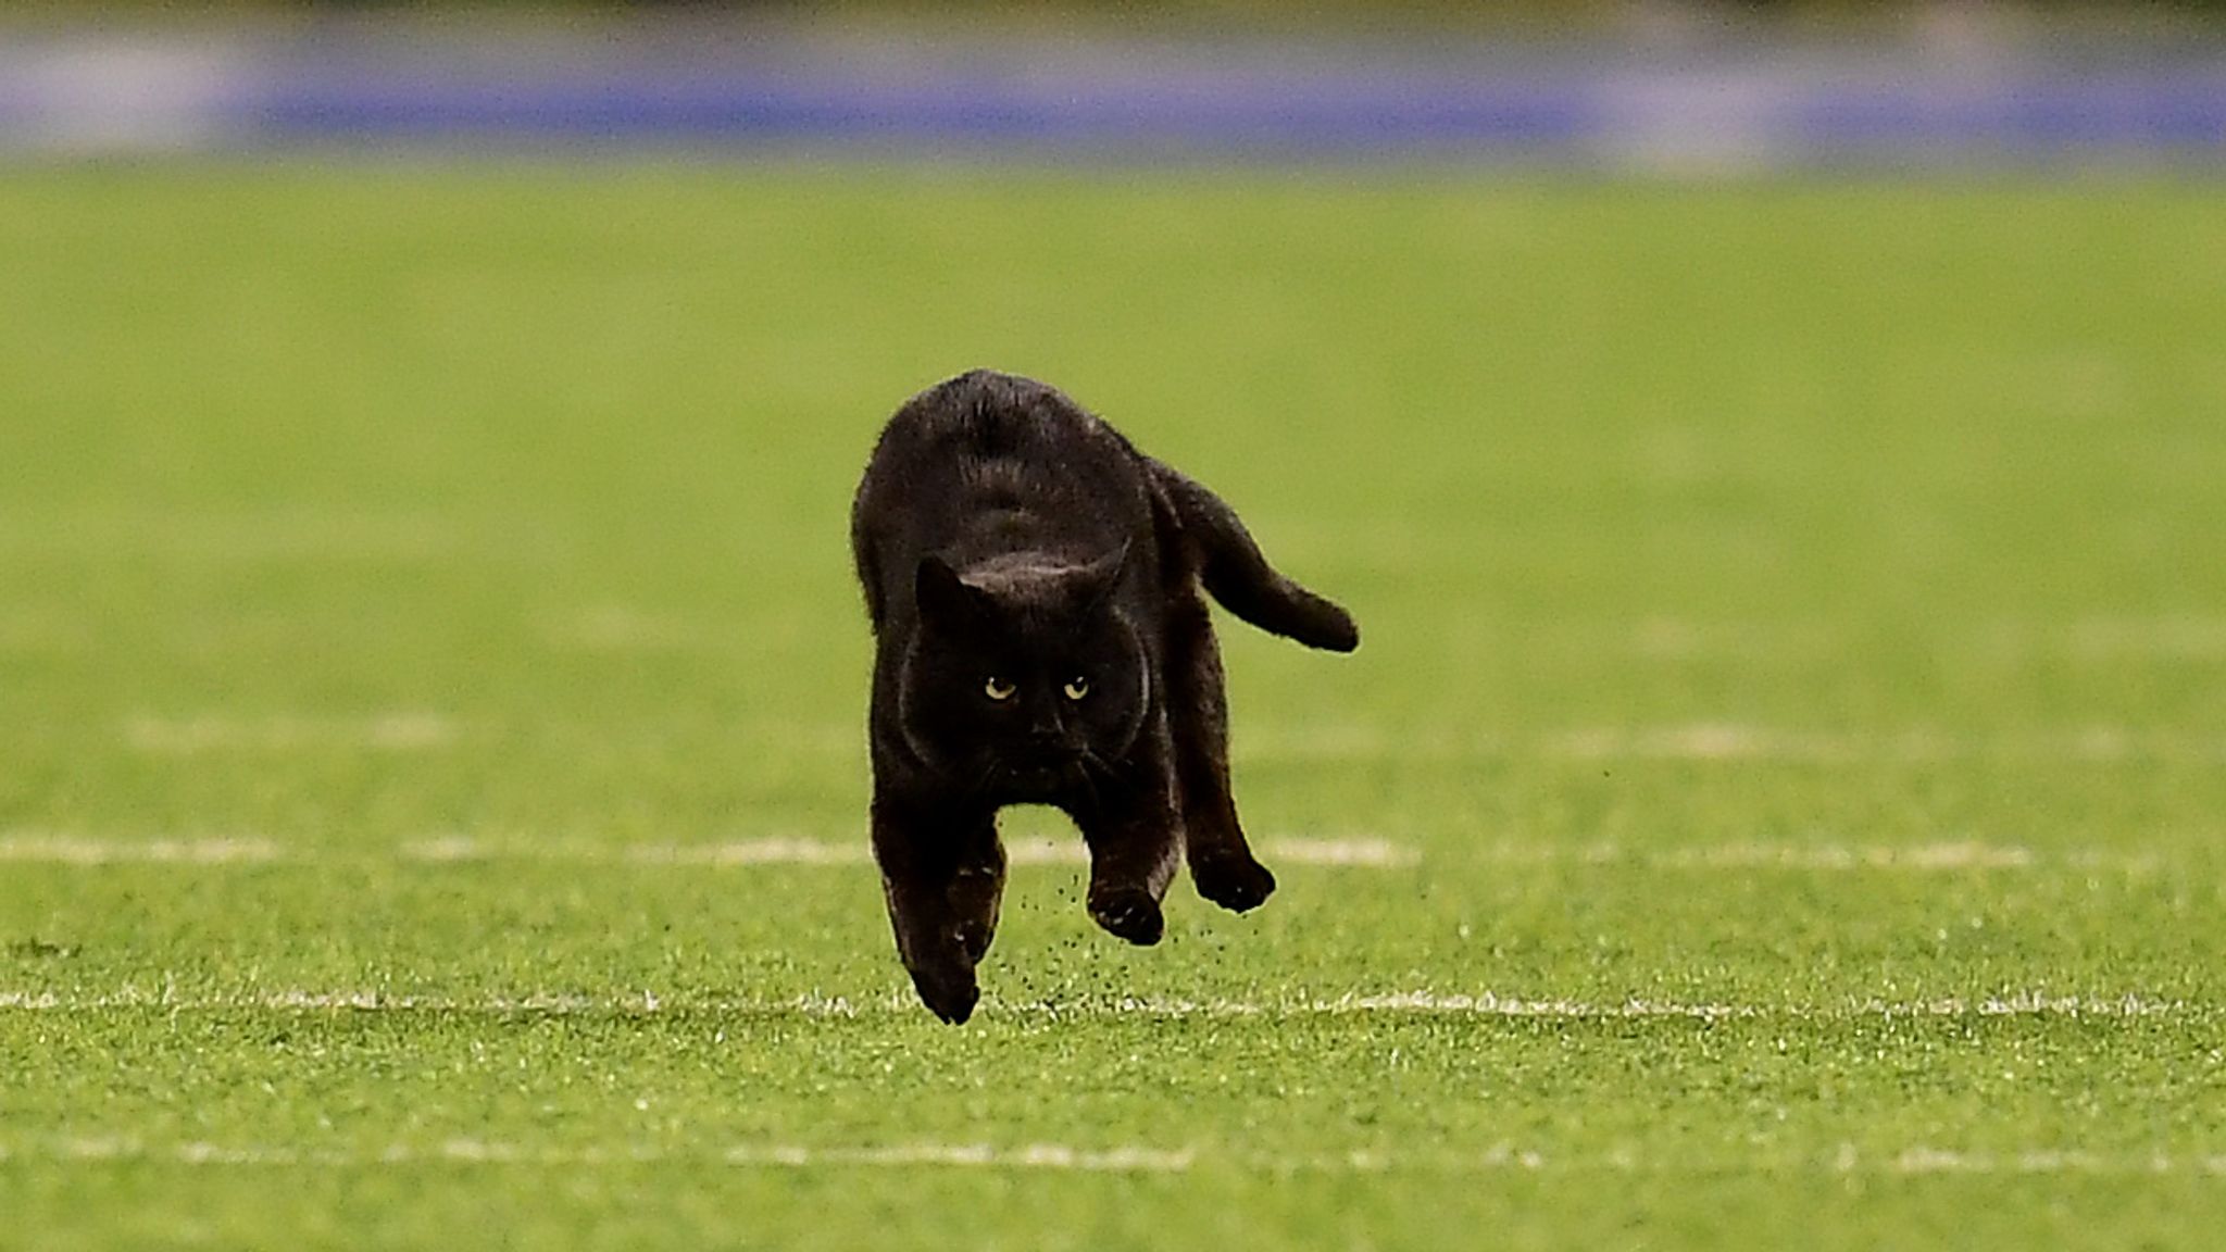
{"type": "Polygon", "coordinates": [[[2215,160],[2217,4],[0,4],[0,149],[2215,160]]]}

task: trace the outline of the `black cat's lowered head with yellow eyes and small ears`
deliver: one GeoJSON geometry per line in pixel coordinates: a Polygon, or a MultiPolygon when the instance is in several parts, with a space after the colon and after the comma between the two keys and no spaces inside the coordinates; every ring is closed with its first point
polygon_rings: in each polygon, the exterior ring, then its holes
{"type": "Polygon", "coordinates": [[[1151,671],[1120,610],[1126,550],[1091,564],[1033,555],[966,568],[928,555],[904,666],[904,735],[984,798],[1053,800],[1104,773],[1144,726],[1151,671]]]}

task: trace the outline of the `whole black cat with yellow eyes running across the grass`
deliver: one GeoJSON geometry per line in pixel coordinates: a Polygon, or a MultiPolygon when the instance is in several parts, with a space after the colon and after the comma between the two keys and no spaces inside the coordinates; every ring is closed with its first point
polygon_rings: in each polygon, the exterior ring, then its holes
{"type": "Polygon", "coordinates": [[[979,998],[1004,804],[1075,820],[1091,918],[1129,942],[1160,940],[1184,851],[1206,900],[1267,900],[1204,593],[1313,648],[1360,630],[1269,568],[1227,503],[1055,388],[975,370],[881,430],[850,548],[877,644],[873,853],[928,1009],[964,1023],[979,998]]]}

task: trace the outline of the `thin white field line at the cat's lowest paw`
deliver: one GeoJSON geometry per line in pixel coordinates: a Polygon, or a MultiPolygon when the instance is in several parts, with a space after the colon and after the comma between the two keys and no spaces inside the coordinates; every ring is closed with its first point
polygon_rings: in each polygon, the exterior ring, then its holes
{"type": "MultiPolygon", "coordinates": [[[[795,996],[786,1000],[690,1000],[686,996],[659,996],[643,989],[628,996],[577,996],[532,991],[523,996],[394,996],[387,991],[238,991],[238,994],[178,994],[174,989],[122,987],[107,994],[56,994],[56,991],[0,991],[0,1009],[9,1011],[114,1011],[114,1009],[174,1009],[174,1011],[396,1011],[396,1014],[757,1014],[757,1016],[806,1016],[806,1018],[859,1018],[868,1014],[917,1014],[919,1005],[908,991],[888,991],[861,1000],[846,996],[795,996]]],[[[984,998],[986,1016],[1046,1016],[1046,1018],[1309,1018],[1309,1016],[1476,1016],[1476,1018],[1545,1018],[1545,1020],[1629,1020],[1629,1018],[1685,1018],[1685,1020],[1865,1020],[1865,1018],[2161,1018],[2175,1014],[2202,1014],[2199,1005],[2186,1000],[2155,1000],[2137,994],[2124,996],[2046,996],[2021,991],[2015,996],[1986,996],[1977,1000],[1948,996],[1934,1000],[1845,1000],[1841,1005],[1723,1005],[1685,1000],[1567,1000],[1500,996],[1496,991],[1445,994],[1445,991],[1349,991],[1322,998],[1289,1000],[1180,1000],[1180,998],[1122,998],[1122,1000],[1075,1000],[1066,1005],[1044,1000],[1006,1002],[995,996],[984,998]]]]}

